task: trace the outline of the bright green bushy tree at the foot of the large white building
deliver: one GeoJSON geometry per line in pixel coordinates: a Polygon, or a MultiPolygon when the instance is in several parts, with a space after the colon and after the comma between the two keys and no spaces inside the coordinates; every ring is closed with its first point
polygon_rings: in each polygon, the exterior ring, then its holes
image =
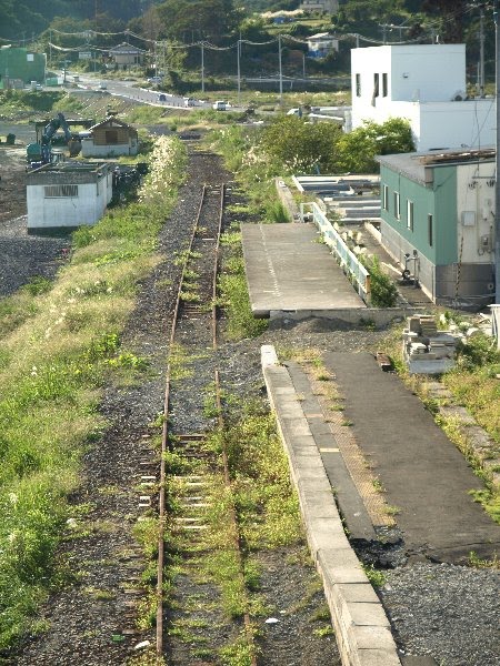
{"type": "Polygon", "coordinates": [[[376,155],[412,151],[414,143],[407,120],[391,118],[381,124],[368,121],[340,137],[336,147],[336,167],[340,172],[377,173],[376,155]]]}

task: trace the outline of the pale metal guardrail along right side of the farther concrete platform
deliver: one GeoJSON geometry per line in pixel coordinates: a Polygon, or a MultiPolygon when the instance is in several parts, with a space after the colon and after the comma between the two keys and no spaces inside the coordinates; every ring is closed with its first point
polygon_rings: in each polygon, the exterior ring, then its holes
{"type": "Polygon", "coordinates": [[[311,201],[308,203],[300,204],[300,216],[302,220],[307,215],[312,215],[312,222],[318,226],[321,232],[324,243],[330,248],[334,254],[340,268],[343,270],[349,280],[353,283],[358,294],[361,299],[370,304],[370,273],[363,266],[351,250],[347,246],[340,234],[333,229],[330,220],[319,208],[319,205],[311,201]]]}

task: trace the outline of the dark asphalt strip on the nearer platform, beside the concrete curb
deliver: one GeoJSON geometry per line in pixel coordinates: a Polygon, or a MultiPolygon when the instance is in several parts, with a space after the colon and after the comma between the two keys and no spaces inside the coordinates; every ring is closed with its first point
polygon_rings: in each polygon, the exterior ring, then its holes
{"type": "Polygon", "coordinates": [[[481,490],[463,455],[436,425],[432,414],[371,354],[324,354],[346,398],[344,415],[386,491],[411,561],[463,563],[470,552],[492,558],[500,526],[474,503],[481,490]]]}

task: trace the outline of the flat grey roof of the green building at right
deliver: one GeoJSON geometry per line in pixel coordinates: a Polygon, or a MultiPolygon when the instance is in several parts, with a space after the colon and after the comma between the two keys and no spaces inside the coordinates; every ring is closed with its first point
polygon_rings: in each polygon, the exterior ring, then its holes
{"type": "Polygon", "coordinates": [[[394,155],[378,155],[382,167],[388,167],[406,178],[426,184],[426,169],[460,165],[469,162],[491,162],[494,160],[494,148],[470,150],[444,150],[423,153],[399,153],[394,155]]]}

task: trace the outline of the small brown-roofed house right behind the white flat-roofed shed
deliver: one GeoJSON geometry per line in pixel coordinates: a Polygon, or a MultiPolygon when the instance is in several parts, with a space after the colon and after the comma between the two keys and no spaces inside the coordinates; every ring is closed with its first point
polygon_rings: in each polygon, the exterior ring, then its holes
{"type": "Polygon", "coordinates": [[[114,115],[94,124],[89,132],[90,135],[81,140],[83,158],[117,158],[138,153],[137,130],[114,115]]]}

